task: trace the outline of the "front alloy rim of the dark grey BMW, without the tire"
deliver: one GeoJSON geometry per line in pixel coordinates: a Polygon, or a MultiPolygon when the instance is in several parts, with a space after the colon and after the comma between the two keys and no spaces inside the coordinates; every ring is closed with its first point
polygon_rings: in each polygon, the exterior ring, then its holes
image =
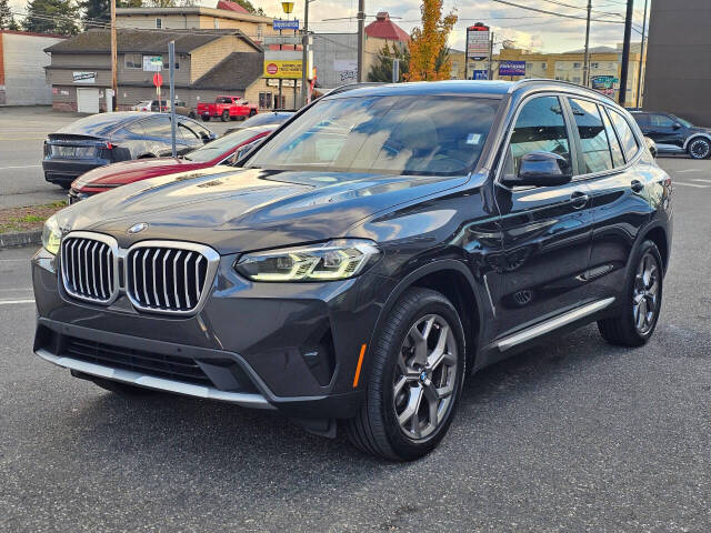
{"type": "Polygon", "coordinates": [[[393,408],[405,436],[432,434],[445,419],[457,381],[457,342],[447,321],[428,314],[410,328],[393,378],[393,408]]]}

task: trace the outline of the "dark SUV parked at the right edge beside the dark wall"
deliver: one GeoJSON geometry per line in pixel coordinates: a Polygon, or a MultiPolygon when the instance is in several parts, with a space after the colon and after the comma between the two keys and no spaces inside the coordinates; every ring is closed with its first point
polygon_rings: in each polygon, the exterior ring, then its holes
{"type": "Polygon", "coordinates": [[[693,159],[711,155],[711,129],[699,128],[671,113],[632,111],[642,133],[657,144],[659,153],[688,153],[693,159]]]}

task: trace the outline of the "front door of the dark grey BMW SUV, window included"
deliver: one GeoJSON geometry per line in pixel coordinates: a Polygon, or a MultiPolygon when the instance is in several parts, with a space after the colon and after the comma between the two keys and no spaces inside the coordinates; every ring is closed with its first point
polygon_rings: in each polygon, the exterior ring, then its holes
{"type": "Polygon", "coordinates": [[[572,310],[589,300],[582,275],[588,270],[592,241],[588,185],[573,179],[555,187],[515,187],[501,183],[515,173],[523,155],[553,152],[578,171],[573,129],[565,101],[553,94],[523,102],[494,187],[501,214],[503,254],[494,258],[502,273],[499,335],[505,335],[572,310]]]}

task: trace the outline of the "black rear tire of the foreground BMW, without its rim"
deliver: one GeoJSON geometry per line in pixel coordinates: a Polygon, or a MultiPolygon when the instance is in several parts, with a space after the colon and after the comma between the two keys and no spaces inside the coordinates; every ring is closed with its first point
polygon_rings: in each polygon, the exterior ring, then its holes
{"type": "MultiPolygon", "coordinates": [[[[622,302],[620,313],[617,316],[598,321],[598,330],[600,330],[600,334],[608,343],[618,346],[632,348],[647,344],[647,341],[652,338],[654,329],[657,328],[657,322],[659,321],[663,296],[663,280],[662,258],[659,253],[659,249],[652,241],[644,241],[634,253],[632,261],[630,261],[630,270],[624,284],[625,300],[622,302]],[[649,322],[644,319],[644,328],[640,329],[634,315],[634,301],[635,298],[638,298],[635,295],[635,284],[640,282],[638,272],[640,265],[647,258],[650,258],[654,262],[654,268],[657,270],[657,283],[659,283],[659,286],[657,290],[653,316],[649,322]]],[[[644,314],[648,315],[649,300],[647,296],[643,298],[645,299],[644,314]]],[[[638,309],[638,313],[640,312],[641,310],[638,309]]]]}

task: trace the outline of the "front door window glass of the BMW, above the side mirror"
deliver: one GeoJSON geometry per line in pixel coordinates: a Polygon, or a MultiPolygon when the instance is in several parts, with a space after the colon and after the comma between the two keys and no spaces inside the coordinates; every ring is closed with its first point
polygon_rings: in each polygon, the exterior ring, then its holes
{"type": "Polygon", "coordinates": [[[529,152],[553,152],[570,163],[570,140],[558,97],[539,97],[523,105],[511,133],[504,172],[515,175],[529,152]]]}

